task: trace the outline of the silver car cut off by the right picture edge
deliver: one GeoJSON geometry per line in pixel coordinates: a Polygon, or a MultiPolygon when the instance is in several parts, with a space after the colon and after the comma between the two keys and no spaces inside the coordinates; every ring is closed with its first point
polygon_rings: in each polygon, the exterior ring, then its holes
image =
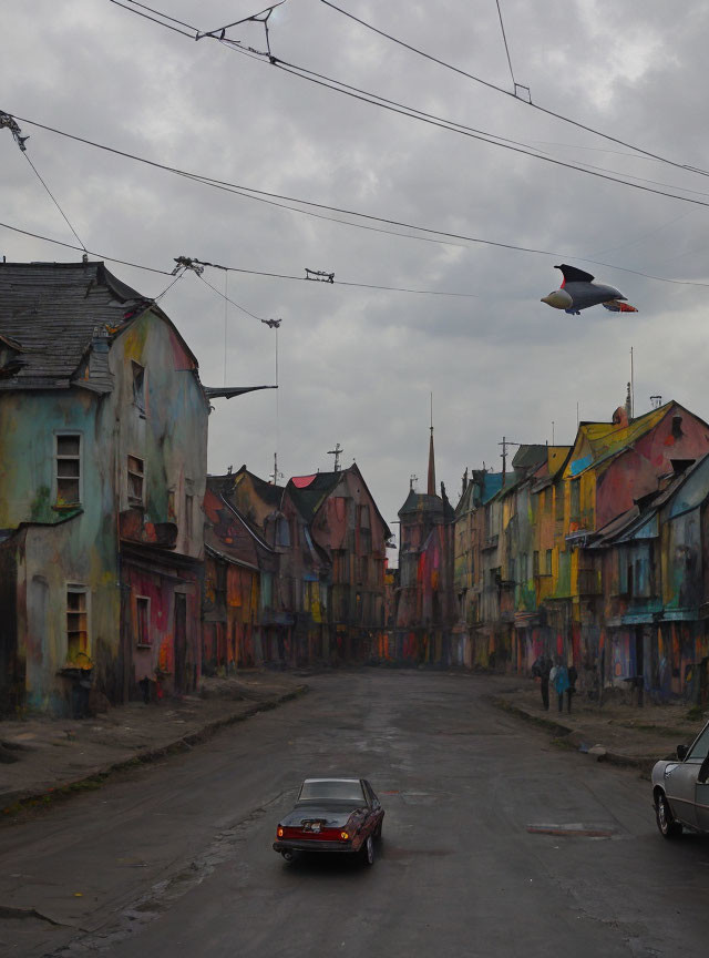
{"type": "Polygon", "coordinates": [[[653,768],[657,827],[666,838],[682,828],[709,832],[709,722],[691,745],[678,745],[677,758],[653,768]]]}

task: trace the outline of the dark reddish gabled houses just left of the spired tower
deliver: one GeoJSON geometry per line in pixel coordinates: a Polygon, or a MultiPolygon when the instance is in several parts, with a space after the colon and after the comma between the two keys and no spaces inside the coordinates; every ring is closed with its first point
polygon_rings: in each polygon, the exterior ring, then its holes
{"type": "MultiPolygon", "coordinates": [[[[357,466],[296,476],[285,487],[242,467],[223,496],[275,557],[259,552],[260,661],[364,661],[383,648],[390,532],[357,466]]],[[[258,655],[257,655],[258,658],[258,655]]]]}

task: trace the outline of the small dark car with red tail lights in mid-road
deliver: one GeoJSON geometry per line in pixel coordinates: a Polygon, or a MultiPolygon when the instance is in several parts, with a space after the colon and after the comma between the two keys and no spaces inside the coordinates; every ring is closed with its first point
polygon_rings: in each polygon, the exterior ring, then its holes
{"type": "Polygon", "coordinates": [[[292,811],[278,823],[274,850],[287,862],[300,852],[343,852],[373,865],[383,817],[367,779],[306,778],[292,811]]]}

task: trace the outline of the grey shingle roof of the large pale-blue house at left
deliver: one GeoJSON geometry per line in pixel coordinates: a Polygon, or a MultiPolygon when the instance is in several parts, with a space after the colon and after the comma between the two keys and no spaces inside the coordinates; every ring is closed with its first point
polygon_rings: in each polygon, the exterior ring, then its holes
{"type": "MultiPolygon", "coordinates": [[[[0,369],[0,390],[69,388],[94,328],[148,305],[103,263],[0,263],[0,336],[20,347],[13,368],[0,369]]],[[[82,385],[111,389],[105,346],[82,385]]]]}

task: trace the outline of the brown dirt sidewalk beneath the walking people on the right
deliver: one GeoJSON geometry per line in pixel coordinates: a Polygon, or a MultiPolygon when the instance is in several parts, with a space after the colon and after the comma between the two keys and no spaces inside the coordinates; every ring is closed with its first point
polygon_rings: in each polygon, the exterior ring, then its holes
{"type": "Polygon", "coordinates": [[[561,747],[588,752],[595,760],[630,765],[649,775],[658,758],[675,755],[677,745],[689,744],[709,718],[686,703],[644,707],[607,700],[598,707],[583,694],[574,696],[572,713],[559,712],[549,690],[549,710],[542,706],[540,686],[524,675],[490,675],[494,704],[520,718],[549,730],[561,747]]]}

